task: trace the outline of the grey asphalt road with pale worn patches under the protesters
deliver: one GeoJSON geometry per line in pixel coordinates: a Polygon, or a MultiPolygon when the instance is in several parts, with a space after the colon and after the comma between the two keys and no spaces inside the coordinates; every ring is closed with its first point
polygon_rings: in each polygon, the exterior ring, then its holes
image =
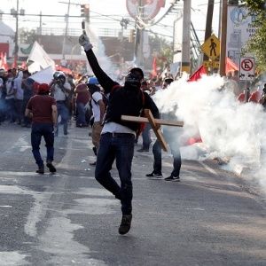
{"type": "Polygon", "coordinates": [[[145,177],[152,153],[136,152],[132,229],[120,236],[119,202],[89,166],[88,129],[59,135],[58,173],[43,176],[29,132],[0,126],[0,265],[266,265],[265,201],[215,161],[184,160],[182,181],[165,182],[145,177]]]}

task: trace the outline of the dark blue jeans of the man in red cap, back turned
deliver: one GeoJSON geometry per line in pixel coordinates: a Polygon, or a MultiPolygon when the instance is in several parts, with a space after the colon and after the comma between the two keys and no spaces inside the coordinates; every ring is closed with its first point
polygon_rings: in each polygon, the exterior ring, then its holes
{"type": "Polygon", "coordinates": [[[47,157],[46,161],[53,160],[53,125],[50,123],[33,123],[31,128],[31,145],[32,145],[32,153],[35,157],[35,162],[38,167],[43,166],[43,159],[40,153],[40,145],[42,137],[45,141],[47,157]]]}

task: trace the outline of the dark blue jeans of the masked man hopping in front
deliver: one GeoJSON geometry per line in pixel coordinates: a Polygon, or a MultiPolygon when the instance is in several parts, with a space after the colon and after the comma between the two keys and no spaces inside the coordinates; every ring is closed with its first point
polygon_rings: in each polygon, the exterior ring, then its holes
{"type": "Polygon", "coordinates": [[[133,134],[112,133],[101,135],[95,178],[107,191],[112,192],[115,198],[121,200],[122,215],[132,212],[133,187],[131,182],[131,164],[134,155],[133,134]],[[110,174],[114,159],[118,169],[121,186],[116,183],[110,174]]]}

